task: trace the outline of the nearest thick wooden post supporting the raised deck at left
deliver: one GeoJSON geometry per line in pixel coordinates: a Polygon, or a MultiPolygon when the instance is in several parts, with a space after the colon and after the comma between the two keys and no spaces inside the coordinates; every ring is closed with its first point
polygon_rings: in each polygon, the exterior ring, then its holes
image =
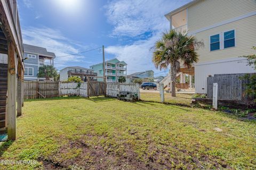
{"type": "Polygon", "coordinates": [[[8,43],[7,134],[9,140],[16,139],[16,60],[14,46],[8,43]]]}

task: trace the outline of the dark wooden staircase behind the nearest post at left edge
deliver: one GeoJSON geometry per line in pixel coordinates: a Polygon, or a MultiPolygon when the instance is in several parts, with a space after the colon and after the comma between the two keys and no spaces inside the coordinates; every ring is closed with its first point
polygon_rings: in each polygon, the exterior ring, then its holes
{"type": "Polygon", "coordinates": [[[0,64],[0,134],[6,133],[7,64],[0,64]]]}

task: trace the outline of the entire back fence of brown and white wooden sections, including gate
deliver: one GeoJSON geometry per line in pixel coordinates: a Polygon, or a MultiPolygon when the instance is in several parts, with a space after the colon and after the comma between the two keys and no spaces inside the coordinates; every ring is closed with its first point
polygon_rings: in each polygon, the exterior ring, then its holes
{"type": "Polygon", "coordinates": [[[108,96],[117,97],[119,91],[136,92],[140,99],[140,86],[133,83],[105,82],[44,82],[24,81],[24,99],[59,96],[108,96]]]}

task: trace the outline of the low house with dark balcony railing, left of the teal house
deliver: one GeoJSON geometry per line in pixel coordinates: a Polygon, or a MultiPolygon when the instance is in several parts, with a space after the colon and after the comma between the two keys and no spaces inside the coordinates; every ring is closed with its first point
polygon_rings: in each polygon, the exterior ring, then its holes
{"type": "Polygon", "coordinates": [[[60,81],[65,81],[69,77],[79,77],[82,81],[97,81],[97,73],[94,73],[92,69],[86,69],[79,66],[69,66],[60,70],[60,81]]]}

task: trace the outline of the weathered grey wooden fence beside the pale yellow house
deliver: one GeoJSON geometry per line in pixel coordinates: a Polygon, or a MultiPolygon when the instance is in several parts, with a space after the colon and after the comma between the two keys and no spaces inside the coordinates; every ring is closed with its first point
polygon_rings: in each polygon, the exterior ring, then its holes
{"type": "MultiPolygon", "coordinates": [[[[253,96],[245,96],[244,91],[249,79],[241,79],[245,74],[215,74],[207,78],[207,98],[213,96],[213,83],[218,83],[218,99],[242,101],[247,103],[253,96]]],[[[250,76],[252,73],[249,74],[250,76]]]]}

